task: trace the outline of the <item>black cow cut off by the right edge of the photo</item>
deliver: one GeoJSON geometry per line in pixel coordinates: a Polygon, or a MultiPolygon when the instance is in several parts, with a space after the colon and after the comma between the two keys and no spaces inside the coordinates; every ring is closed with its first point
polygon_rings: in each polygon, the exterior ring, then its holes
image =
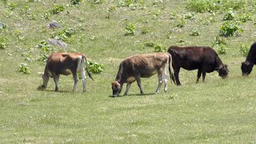
{"type": "Polygon", "coordinates": [[[247,76],[253,70],[254,65],[256,64],[256,42],[250,46],[249,53],[246,57],[246,61],[242,62],[241,70],[242,75],[247,76]]]}

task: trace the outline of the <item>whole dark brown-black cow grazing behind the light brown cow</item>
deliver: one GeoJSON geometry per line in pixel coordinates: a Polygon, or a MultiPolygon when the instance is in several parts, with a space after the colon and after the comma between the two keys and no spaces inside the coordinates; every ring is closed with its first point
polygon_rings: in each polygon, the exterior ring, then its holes
{"type": "Polygon", "coordinates": [[[173,58],[174,77],[176,84],[181,85],[178,79],[178,73],[180,68],[186,70],[198,69],[198,79],[202,74],[202,82],[205,81],[206,73],[218,71],[218,75],[222,78],[226,78],[229,70],[227,65],[222,63],[222,60],[218,58],[218,54],[210,47],[205,46],[189,46],[178,47],[170,46],[168,52],[173,58]]]}

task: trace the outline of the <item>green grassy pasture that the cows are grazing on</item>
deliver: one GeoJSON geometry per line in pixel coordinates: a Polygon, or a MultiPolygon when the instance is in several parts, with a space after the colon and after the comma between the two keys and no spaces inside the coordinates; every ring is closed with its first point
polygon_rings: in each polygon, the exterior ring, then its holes
{"type": "Polygon", "coordinates": [[[84,0],[77,6],[69,0],[0,0],[0,143],[255,143],[256,74],[242,77],[245,57],[239,52],[255,41],[255,15],[254,0],[84,0]],[[234,19],[225,21],[228,12],[234,19]],[[46,26],[53,20],[61,28],[46,26]],[[181,70],[182,86],[169,81],[166,94],[163,87],[154,94],[153,76],[142,78],[143,96],[134,83],[128,96],[110,97],[123,58],[153,53],[154,47],[212,46],[225,22],[242,29],[238,36],[219,36],[226,42],[219,57],[229,78],[215,71],[196,84],[196,70],[181,70]],[[75,33],[63,37],[65,30],[75,33]],[[54,36],[68,46],[38,48],[54,36]],[[94,81],[87,76],[86,93],[81,81],[72,91],[71,76],[61,76],[58,92],[52,79],[46,90],[37,90],[42,58],[54,51],[86,54],[105,69],[93,74],[94,81]],[[20,63],[30,74],[17,71],[20,63]]]}

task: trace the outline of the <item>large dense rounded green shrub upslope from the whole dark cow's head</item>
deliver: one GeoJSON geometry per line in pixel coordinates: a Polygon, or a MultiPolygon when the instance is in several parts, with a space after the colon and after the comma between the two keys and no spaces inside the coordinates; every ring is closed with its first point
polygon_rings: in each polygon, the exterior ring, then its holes
{"type": "Polygon", "coordinates": [[[242,32],[242,28],[234,22],[225,22],[219,30],[219,35],[224,37],[238,36],[242,32]]]}

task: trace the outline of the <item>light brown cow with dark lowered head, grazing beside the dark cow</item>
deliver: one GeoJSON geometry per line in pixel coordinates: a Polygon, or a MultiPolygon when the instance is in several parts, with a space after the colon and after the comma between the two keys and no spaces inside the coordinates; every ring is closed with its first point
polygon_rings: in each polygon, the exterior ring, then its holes
{"type": "Polygon", "coordinates": [[[138,87],[143,94],[141,78],[150,78],[154,74],[158,74],[158,89],[156,94],[159,93],[162,82],[165,82],[165,89],[167,91],[167,75],[166,75],[166,63],[169,62],[170,78],[174,81],[174,75],[170,70],[172,63],[171,55],[168,53],[154,53],[154,54],[137,54],[126,58],[120,63],[118,74],[115,81],[112,82],[113,96],[117,96],[121,93],[122,85],[127,83],[126,92],[131,83],[137,81],[138,87]]]}

